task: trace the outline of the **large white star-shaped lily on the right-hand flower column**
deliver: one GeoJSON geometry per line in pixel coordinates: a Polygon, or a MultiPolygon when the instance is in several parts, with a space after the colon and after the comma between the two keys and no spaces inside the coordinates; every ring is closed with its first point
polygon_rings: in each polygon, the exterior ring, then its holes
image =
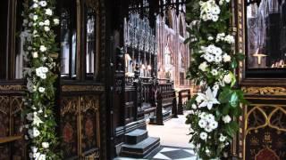
{"type": "Polygon", "coordinates": [[[207,107],[209,110],[213,108],[214,104],[220,104],[218,100],[216,100],[217,90],[212,92],[210,87],[207,87],[206,94],[198,92],[198,97],[203,100],[203,102],[198,106],[198,108],[207,107]]]}

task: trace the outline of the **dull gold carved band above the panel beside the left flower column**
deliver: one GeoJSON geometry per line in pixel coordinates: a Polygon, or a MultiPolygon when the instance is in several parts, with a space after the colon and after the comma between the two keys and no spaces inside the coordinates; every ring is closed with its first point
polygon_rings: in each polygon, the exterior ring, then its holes
{"type": "Polygon", "coordinates": [[[63,92],[93,92],[105,91],[105,86],[102,85],[63,85],[62,86],[63,92]]]}

